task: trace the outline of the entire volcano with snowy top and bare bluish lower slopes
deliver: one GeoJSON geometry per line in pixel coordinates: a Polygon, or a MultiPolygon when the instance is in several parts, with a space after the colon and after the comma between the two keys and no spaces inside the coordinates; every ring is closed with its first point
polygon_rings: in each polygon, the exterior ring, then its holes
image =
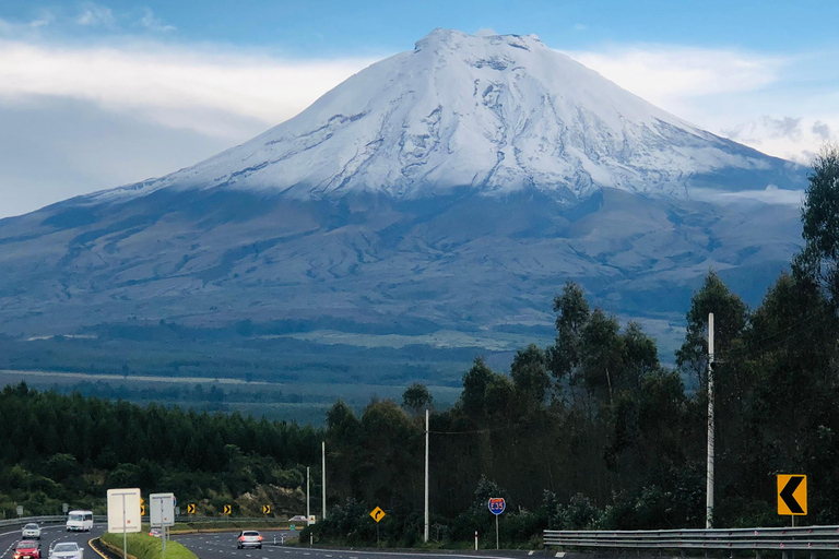
{"type": "Polygon", "coordinates": [[[0,221],[0,331],[492,337],[550,326],[567,281],[681,325],[709,267],[763,294],[800,225],[755,194],[804,183],[534,36],[435,29],[193,167],[0,221]]]}

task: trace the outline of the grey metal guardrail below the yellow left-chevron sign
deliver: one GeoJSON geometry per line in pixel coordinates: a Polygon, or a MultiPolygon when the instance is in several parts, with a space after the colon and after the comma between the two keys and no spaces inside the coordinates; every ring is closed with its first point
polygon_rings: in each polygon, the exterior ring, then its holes
{"type": "Polygon", "coordinates": [[[570,548],[617,549],[692,549],[760,551],[839,551],[839,526],[657,530],[657,531],[591,531],[572,532],[546,530],[544,545],[570,548]]]}

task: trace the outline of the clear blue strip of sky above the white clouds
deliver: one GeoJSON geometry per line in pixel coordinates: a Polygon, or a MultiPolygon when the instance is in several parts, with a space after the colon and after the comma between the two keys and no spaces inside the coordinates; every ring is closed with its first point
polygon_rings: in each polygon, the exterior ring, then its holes
{"type": "MultiPolygon", "coordinates": [[[[4,2],[10,21],[83,3],[4,2]]],[[[111,1],[113,13],[153,11],[182,40],[223,40],[293,55],[333,56],[410,48],[434,27],[535,33],[583,49],[602,43],[674,43],[785,51],[836,45],[839,2],[825,0],[590,1],[111,1]]]]}

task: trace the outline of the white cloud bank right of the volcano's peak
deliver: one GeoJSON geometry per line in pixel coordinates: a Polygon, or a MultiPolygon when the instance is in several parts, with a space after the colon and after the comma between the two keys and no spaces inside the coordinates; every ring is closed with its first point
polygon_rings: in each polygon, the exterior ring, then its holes
{"type": "Polygon", "coordinates": [[[777,157],[806,164],[837,139],[836,52],[641,45],[567,53],[677,117],[777,157]]]}

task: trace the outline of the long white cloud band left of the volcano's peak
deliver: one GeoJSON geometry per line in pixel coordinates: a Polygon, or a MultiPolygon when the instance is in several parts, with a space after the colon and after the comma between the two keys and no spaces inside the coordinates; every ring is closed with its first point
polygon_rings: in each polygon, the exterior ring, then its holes
{"type": "Polygon", "coordinates": [[[0,103],[32,95],[85,99],[115,112],[214,136],[237,121],[276,124],[368,66],[369,59],[284,61],[143,43],[122,48],[0,41],[0,103]],[[228,118],[208,119],[208,112],[228,118]]]}

